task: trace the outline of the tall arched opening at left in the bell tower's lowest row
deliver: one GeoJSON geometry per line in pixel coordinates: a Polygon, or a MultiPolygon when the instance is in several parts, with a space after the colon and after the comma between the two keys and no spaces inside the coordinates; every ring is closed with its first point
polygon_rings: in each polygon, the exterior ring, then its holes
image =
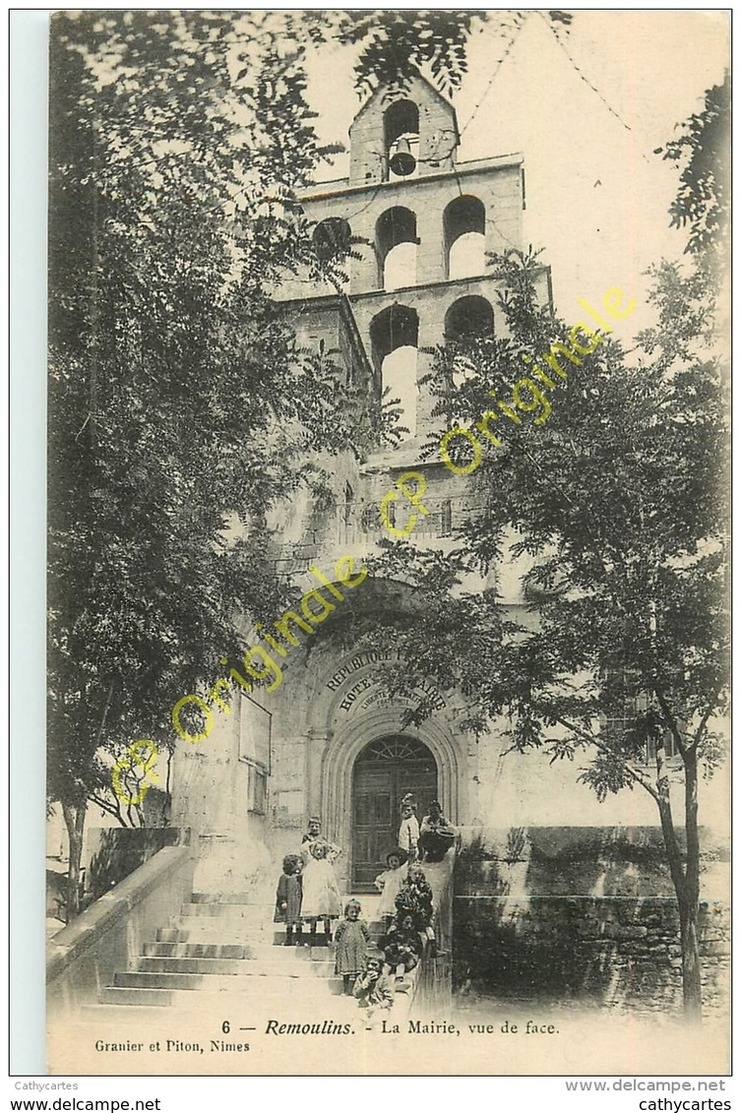
{"type": "Polygon", "coordinates": [[[398,398],[399,421],[414,436],[417,426],[417,345],[419,319],[406,305],[392,305],[370,322],[370,353],[382,391],[398,398]]]}

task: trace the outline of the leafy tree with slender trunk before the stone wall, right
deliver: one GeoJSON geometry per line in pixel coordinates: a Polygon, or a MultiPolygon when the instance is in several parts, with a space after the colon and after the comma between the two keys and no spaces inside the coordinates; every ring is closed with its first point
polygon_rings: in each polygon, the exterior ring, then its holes
{"type": "MultiPolygon", "coordinates": [[[[728,681],[728,444],[722,366],[709,347],[711,279],[683,279],[664,265],[652,294],[659,323],[639,337],[636,365],[603,336],[579,366],[562,359],[563,381],[542,356],[567,327],[537,305],[536,260],[511,253],[500,275],[512,338],[441,349],[438,390],[465,368],[455,408],[475,429],[492,394],[512,395],[525,355],[557,382],[544,390],[551,412],[536,424],[544,411],[528,410],[521,388],[522,423],[502,412],[496,421],[502,444],[475,470],[471,452],[454,457],[471,469],[461,483],[483,509],[447,561],[387,546],[377,570],[423,589],[425,618],[394,629],[405,668],[386,680],[407,693],[425,676],[460,687],[472,701],[464,726],[480,733],[506,712],[514,750],[586,762],[579,779],[600,799],[623,789],[651,796],[678,900],[685,1008],[699,1015],[698,791],[721,754],[728,681]],[[464,590],[467,574],[505,553],[532,564],[525,620],[494,591],[464,590]],[[685,846],[670,742],[681,761],[685,846]]],[[[388,644],[388,631],[381,638],[388,644]]],[[[423,703],[415,715],[428,711],[423,703]]]]}

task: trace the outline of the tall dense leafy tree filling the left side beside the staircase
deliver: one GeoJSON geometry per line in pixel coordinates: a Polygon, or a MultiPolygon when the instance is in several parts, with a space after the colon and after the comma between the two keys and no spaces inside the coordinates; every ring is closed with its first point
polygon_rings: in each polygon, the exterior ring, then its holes
{"type": "Polygon", "coordinates": [[[71,914],[87,800],[141,821],[112,760],[169,738],[236,617],[277,605],[267,515],[324,481],[307,447],[354,444],[329,358],[268,296],[334,264],[295,201],[327,154],[300,66],[256,20],[53,17],[49,794],[71,914]]]}

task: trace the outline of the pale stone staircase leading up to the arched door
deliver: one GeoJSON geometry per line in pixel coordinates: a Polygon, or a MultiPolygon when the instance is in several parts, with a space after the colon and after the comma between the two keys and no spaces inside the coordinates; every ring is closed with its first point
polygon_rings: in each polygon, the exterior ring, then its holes
{"type": "MultiPolygon", "coordinates": [[[[374,898],[362,899],[366,915],[374,898]]],[[[246,1006],[289,999],[326,1008],[342,995],[343,982],[334,974],[334,948],[322,922],[314,945],[287,947],[285,930],[266,923],[268,912],[254,894],[194,893],[171,925],[144,943],[134,968],[117,972],[113,984],[101,988],[99,1004],[199,1007],[205,997],[236,993],[246,1006]]],[[[377,940],[382,924],[369,927],[377,940]]]]}

